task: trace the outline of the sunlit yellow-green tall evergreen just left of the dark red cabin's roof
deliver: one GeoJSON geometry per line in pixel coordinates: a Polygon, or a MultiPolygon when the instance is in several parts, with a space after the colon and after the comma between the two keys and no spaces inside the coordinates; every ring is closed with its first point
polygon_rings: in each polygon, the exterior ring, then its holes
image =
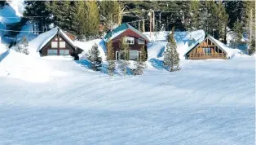
{"type": "Polygon", "coordinates": [[[95,38],[99,35],[99,10],[96,1],[85,2],[86,11],[86,39],[95,38]]]}

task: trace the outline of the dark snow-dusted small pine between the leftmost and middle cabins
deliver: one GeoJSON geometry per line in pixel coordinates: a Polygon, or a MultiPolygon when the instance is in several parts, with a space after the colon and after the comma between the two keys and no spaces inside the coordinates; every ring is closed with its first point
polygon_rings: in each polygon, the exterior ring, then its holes
{"type": "Polygon", "coordinates": [[[89,50],[88,59],[90,60],[91,68],[94,71],[99,71],[101,68],[102,59],[101,59],[101,57],[99,57],[99,49],[98,49],[98,45],[96,43],[89,50]]]}

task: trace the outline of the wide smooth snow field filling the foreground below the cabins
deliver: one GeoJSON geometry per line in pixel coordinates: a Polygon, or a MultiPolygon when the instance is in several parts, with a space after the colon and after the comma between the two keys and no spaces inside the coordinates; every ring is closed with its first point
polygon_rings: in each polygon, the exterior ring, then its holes
{"type": "Polygon", "coordinates": [[[254,144],[252,57],[183,59],[174,73],[150,59],[125,77],[70,58],[0,57],[0,144],[254,144]]]}

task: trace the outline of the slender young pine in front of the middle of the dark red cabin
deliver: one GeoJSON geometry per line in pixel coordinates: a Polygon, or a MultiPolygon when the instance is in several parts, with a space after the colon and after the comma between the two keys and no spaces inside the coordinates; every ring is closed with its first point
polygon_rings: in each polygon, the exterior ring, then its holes
{"type": "Polygon", "coordinates": [[[127,72],[127,67],[128,65],[130,64],[129,63],[129,53],[130,53],[130,47],[129,47],[129,44],[127,44],[125,42],[125,37],[122,37],[121,38],[121,41],[120,41],[120,53],[121,53],[121,69],[123,70],[123,74],[126,75],[126,72],[127,72]]]}

